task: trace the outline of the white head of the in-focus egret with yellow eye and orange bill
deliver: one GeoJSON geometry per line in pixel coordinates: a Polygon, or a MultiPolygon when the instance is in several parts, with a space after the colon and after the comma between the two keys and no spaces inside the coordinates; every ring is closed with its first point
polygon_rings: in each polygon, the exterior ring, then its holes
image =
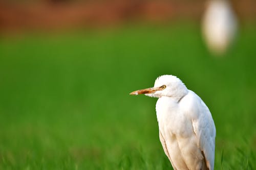
{"type": "Polygon", "coordinates": [[[131,92],[132,95],[145,94],[153,98],[168,96],[180,100],[188,92],[186,86],[176,76],[163,75],[156,79],[152,88],[136,90],[131,92]]]}

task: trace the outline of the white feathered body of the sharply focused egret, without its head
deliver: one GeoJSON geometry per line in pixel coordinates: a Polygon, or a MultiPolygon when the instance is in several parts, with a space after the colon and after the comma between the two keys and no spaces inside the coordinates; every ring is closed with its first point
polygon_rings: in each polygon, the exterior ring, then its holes
{"type": "MultiPolygon", "coordinates": [[[[159,137],[166,155],[175,169],[206,169],[203,150],[209,149],[207,155],[210,162],[214,162],[215,130],[210,112],[199,96],[193,91],[179,101],[169,97],[161,97],[156,105],[159,137]],[[167,106],[167,107],[166,107],[167,106]],[[197,106],[197,107],[195,107],[197,106]],[[209,126],[210,125],[210,126],[209,126]],[[201,134],[197,128],[205,128],[209,134],[201,134]],[[200,142],[206,142],[206,148],[200,147],[200,142]]],[[[205,133],[205,132],[203,132],[205,133]]],[[[208,160],[207,159],[207,160],[208,160]]],[[[208,163],[208,164],[209,164],[208,163]]],[[[210,165],[214,169],[214,165],[210,165]]]]}

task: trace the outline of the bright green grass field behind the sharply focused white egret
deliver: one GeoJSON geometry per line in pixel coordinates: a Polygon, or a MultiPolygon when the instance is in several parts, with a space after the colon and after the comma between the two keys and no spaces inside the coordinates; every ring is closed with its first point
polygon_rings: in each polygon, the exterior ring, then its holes
{"type": "Polygon", "coordinates": [[[163,74],[209,107],[215,169],[256,168],[256,25],[223,57],[195,24],[0,39],[0,169],[171,169],[157,99],[131,96],[163,74]]]}

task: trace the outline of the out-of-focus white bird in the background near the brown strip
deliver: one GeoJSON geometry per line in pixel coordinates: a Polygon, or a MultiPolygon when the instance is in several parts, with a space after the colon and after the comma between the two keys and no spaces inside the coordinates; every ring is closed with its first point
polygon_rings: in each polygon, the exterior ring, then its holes
{"type": "Polygon", "coordinates": [[[210,0],[202,19],[202,32],[209,51],[223,55],[237,32],[237,18],[227,0],[210,0]]]}

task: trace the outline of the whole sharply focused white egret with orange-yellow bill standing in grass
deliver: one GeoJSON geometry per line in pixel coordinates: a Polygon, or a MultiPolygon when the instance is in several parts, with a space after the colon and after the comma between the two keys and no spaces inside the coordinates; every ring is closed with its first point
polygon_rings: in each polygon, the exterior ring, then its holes
{"type": "Polygon", "coordinates": [[[159,138],[174,169],[214,169],[216,129],[201,98],[176,76],[156,79],[152,88],[133,91],[159,98],[159,138]]]}

